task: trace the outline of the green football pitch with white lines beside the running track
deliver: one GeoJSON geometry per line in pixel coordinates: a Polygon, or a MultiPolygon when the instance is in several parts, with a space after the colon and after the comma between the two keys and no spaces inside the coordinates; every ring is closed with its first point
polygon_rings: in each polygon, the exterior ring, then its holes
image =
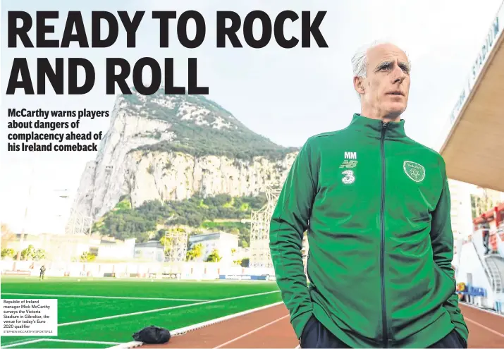
{"type": "Polygon", "coordinates": [[[2,277],[1,298],[58,300],[58,336],[2,336],[1,348],[19,349],[109,348],[133,341],[133,333],[145,326],[173,331],[281,301],[274,281],[113,278],[39,281],[38,277],[25,276],[2,277]],[[42,338],[57,341],[20,344],[42,338]]]}

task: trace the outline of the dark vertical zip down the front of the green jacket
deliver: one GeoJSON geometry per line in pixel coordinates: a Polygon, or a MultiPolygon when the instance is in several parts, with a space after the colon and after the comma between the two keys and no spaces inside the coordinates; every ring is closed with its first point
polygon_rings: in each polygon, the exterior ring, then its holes
{"type": "Polygon", "coordinates": [[[381,277],[381,317],[383,331],[383,348],[388,348],[388,326],[387,326],[387,308],[385,300],[385,222],[384,222],[384,207],[385,207],[385,133],[388,123],[382,123],[381,129],[381,246],[380,246],[380,277],[381,277]]]}

